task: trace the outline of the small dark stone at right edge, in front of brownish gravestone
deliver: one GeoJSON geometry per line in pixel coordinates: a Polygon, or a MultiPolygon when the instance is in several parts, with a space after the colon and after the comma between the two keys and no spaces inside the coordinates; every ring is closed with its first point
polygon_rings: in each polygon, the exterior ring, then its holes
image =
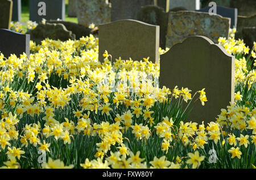
{"type": "MultiPolygon", "coordinates": [[[[256,26],[256,24],[255,24],[256,26]]],[[[243,41],[246,46],[253,47],[253,42],[256,42],[256,27],[244,27],[242,30],[243,41]]]]}

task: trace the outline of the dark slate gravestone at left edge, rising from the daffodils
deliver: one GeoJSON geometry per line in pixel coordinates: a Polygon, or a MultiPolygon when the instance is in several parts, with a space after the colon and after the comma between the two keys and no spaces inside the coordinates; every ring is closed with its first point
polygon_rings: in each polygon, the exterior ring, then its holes
{"type": "Polygon", "coordinates": [[[23,35],[11,30],[0,29],[0,51],[7,58],[11,54],[30,56],[30,35],[23,35]]]}

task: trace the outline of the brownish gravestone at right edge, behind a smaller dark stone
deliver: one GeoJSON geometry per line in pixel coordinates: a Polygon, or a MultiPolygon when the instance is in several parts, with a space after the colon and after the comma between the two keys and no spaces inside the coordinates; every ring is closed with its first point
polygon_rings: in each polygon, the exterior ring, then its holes
{"type": "Polygon", "coordinates": [[[256,14],[251,16],[238,16],[237,19],[237,32],[236,39],[242,39],[243,27],[254,27],[256,26],[256,14]]]}

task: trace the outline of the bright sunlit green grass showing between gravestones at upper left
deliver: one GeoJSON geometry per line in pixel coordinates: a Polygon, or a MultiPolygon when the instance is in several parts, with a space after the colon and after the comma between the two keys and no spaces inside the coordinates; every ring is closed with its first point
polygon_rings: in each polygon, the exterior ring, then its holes
{"type": "MultiPolygon", "coordinates": [[[[78,23],[77,18],[70,18],[70,17],[68,17],[68,0],[65,0],[65,5],[66,5],[65,21],[78,23]]],[[[30,9],[29,9],[29,6],[22,6],[22,23],[28,22],[29,19],[30,19],[30,9]]],[[[27,30],[27,24],[24,24],[22,27],[23,27],[24,30],[27,30]]]]}

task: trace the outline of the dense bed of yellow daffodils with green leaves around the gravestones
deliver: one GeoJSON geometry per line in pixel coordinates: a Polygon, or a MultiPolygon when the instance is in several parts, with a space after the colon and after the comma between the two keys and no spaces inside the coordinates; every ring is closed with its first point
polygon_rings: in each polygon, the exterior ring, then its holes
{"type": "Polygon", "coordinates": [[[236,56],[236,103],[209,123],[187,119],[207,90],[143,82],[159,76],[148,58],[101,63],[92,35],[1,55],[2,168],[255,168],[255,52],[219,42],[236,56]]]}

